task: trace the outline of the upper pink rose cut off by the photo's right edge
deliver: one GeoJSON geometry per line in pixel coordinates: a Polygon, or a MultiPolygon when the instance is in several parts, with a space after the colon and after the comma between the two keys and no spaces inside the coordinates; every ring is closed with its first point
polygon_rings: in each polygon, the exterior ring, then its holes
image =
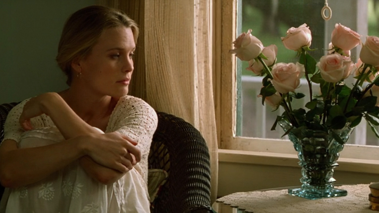
{"type": "Polygon", "coordinates": [[[367,36],[359,54],[360,60],[365,64],[372,66],[379,65],[379,38],[376,36],[367,36]]]}

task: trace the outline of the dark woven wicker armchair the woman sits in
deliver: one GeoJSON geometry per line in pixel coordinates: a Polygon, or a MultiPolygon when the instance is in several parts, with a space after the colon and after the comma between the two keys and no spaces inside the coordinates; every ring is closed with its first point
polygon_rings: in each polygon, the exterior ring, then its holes
{"type": "MultiPolygon", "coordinates": [[[[0,141],[4,122],[17,103],[0,105],[0,141]]],[[[211,213],[210,156],[200,132],[174,115],[157,112],[149,169],[163,169],[168,180],[154,200],[152,213],[211,213]]],[[[0,185],[0,198],[4,192],[0,185]]]]}

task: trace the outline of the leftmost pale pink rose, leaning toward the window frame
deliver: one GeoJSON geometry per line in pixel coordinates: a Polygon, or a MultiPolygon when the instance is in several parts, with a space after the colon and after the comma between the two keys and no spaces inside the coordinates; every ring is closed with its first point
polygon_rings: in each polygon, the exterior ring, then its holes
{"type": "Polygon", "coordinates": [[[263,44],[257,37],[252,36],[251,29],[247,33],[242,33],[233,41],[235,49],[230,50],[230,53],[236,53],[236,56],[242,61],[250,61],[257,58],[263,50],[263,44]]]}

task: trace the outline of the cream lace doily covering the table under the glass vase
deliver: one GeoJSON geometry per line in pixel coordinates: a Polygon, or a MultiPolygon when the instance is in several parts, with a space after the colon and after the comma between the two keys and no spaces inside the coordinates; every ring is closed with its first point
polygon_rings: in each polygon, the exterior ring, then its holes
{"type": "Polygon", "coordinates": [[[288,195],[287,190],[251,191],[233,193],[217,199],[216,202],[255,213],[375,212],[368,208],[370,206],[368,184],[342,185],[336,188],[347,190],[348,195],[309,200],[288,195]]]}

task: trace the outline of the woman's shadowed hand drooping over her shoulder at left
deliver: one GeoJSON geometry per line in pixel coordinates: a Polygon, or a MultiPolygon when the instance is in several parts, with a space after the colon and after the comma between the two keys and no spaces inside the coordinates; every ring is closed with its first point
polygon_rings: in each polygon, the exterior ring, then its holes
{"type": "Polygon", "coordinates": [[[21,113],[19,122],[24,130],[31,130],[33,126],[30,123],[30,119],[40,116],[45,112],[45,103],[56,100],[55,97],[59,96],[55,92],[48,92],[39,96],[33,97],[25,103],[23,111],[21,113]]]}

